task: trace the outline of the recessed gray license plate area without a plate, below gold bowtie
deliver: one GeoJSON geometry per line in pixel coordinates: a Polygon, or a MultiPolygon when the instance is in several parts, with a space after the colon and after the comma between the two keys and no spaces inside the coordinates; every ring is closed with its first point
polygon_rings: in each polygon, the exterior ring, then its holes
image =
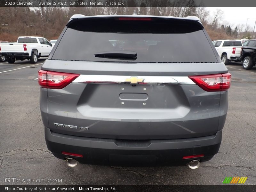
{"type": "Polygon", "coordinates": [[[177,108],[187,104],[180,85],[87,84],[78,105],[92,108],[177,108]]]}

